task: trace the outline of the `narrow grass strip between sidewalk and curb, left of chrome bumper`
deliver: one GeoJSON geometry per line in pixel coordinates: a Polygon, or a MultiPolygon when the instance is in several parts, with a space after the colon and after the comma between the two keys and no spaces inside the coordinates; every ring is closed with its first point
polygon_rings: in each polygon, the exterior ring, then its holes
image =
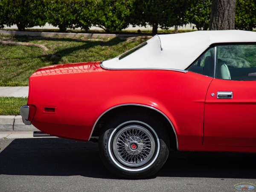
{"type": "Polygon", "coordinates": [[[20,115],[20,107],[26,103],[26,97],[0,97],[0,115],[20,115]]]}

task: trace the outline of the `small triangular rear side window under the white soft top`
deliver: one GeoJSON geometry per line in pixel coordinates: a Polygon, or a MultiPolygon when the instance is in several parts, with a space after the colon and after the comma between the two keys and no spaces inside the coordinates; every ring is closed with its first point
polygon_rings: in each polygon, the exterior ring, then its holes
{"type": "Polygon", "coordinates": [[[214,74],[214,47],[208,49],[196,60],[188,71],[199,73],[205,76],[213,77],[214,74]]]}

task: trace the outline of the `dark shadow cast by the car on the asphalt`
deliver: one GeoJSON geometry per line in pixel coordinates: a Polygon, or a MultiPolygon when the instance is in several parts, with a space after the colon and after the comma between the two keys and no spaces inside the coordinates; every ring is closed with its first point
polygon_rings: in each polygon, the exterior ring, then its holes
{"type": "MultiPolygon", "coordinates": [[[[92,142],[15,139],[0,153],[0,174],[116,178],[98,153],[98,144],[92,142]]],[[[171,151],[156,177],[256,179],[255,160],[256,154],[171,151]]]]}

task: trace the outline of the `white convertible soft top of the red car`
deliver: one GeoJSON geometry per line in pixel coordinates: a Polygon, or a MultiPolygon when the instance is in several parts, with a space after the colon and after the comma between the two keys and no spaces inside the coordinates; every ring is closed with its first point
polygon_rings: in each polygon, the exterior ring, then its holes
{"type": "Polygon", "coordinates": [[[128,51],[116,58],[102,61],[106,69],[176,69],[185,70],[211,44],[256,42],[256,32],[196,31],[169,35],[155,35],[138,46],[135,52],[128,51]],[[161,50],[162,49],[162,50],[161,50]]]}

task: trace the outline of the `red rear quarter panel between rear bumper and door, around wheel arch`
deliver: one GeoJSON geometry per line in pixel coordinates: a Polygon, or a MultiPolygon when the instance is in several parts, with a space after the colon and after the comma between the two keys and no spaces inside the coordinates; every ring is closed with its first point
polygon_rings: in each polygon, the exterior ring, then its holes
{"type": "Polygon", "coordinates": [[[122,104],[164,113],[179,146],[202,145],[204,101],[212,78],[171,70],[104,70],[31,77],[32,124],[58,137],[88,140],[98,117],[122,104]],[[44,106],[56,113],[43,113],[44,106]]]}

